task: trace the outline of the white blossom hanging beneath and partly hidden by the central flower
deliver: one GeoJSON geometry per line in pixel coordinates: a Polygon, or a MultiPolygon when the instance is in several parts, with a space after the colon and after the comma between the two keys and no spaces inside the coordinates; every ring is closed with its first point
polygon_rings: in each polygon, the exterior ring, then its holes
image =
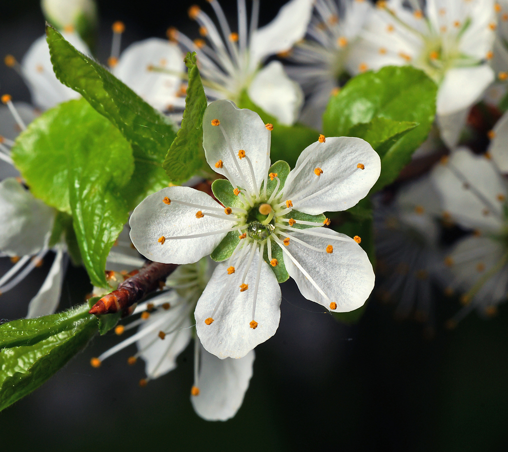
{"type": "Polygon", "coordinates": [[[104,359],[136,343],[138,351],[128,360],[134,364],[138,358],[145,361],[148,381],[161,377],[176,368],[177,356],[194,337],[194,385],[190,390],[193,407],[204,419],[227,420],[240,408],[252,376],[254,351],[241,359],[219,359],[208,353],[196,337],[191,320],[198,298],[210,279],[212,265],[208,258],[195,264],[180,265],[166,280],[169,291],[164,291],[140,304],[133,315],[141,318],[127,325],[118,325],[117,334],[139,326],[133,336],[125,339],[91,364],[98,367],[104,359]]]}

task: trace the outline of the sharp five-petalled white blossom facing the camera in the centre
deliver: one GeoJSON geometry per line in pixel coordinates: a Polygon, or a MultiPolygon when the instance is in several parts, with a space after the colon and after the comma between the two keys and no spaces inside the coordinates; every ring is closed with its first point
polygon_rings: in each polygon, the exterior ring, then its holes
{"type": "Polygon", "coordinates": [[[231,101],[212,102],[203,147],[210,167],[228,179],[212,185],[223,205],[169,187],[142,201],[130,220],[131,239],[148,259],[190,263],[213,252],[222,261],[195,311],[203,346],[219,358],[245,356],[275,333],[278,281],[291,276],[306,298],[332,311],[360,307],[374,284],[358,243],[319,228],[329,223],[323,212],[367,195],[379,156],[360,138],[320,136],[291,172],[285,162],[270,167],[272,128],[231,101]]]}

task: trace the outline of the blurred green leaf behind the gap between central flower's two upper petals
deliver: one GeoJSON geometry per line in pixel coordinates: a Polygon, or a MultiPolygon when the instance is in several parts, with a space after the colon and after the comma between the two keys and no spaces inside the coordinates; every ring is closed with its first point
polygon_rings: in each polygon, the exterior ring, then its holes
{"type": "Polygon", "coordinates": [[[316,142],[317,137],[319,137],[319,132],[302,124],[294,124],[293,126],[279,124],[274,116],[253,103],[246,92],[242,93],[238,107],[255,111],[265,123],[273,124],[270,156],[272,160],[288,162],[292,168],[295,167],[302,150],[316,142]]]}

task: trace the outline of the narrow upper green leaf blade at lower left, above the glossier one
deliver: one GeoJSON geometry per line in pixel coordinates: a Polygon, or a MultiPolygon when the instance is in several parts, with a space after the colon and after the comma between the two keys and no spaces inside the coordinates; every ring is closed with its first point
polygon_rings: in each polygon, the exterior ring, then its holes
{"type": "Polygon", "coordinates": [[[88,317],[88,311],[85,304],[58,314],[3,323],[0,325],[0,349],[36,344],[88,317]]]}

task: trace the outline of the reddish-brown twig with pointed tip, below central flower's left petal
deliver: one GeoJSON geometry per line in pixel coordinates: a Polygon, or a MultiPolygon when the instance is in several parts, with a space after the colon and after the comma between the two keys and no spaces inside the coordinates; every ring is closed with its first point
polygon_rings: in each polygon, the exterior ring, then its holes
{"type": "Polygon", "coordinates": [[[147,293],[158,289],[159,282],[164,281],[177,266],[158,262],[148,264],[136,275],[123,281],[116,290],[103,296],[88,312],[98,315],[127,310],[147,293]]]}

